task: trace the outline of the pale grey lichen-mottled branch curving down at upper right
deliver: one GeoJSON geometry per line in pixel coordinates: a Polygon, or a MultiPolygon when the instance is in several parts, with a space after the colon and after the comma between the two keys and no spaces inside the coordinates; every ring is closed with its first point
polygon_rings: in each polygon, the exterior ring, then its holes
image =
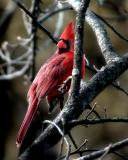
{"type": "MultiPolygon", "coordinates": [[[[68,0],[68,3],[73,7],[73,9],[78,12],[78,8],[80,5],[80,0],[68,0]]],[[[94,33],[96,34],[96,38],[98,41],[98,45],[101,49],[101,52],[105,58],[105,61],[107,63],[115,60],[115,58],[118,58],[119,56],[116,54],[112,43],[110,41],[110,38],[107,35],[107,32],[105,30],[105,27],[102,23],[102,21],[90,10],[86,12],[85,20],[87,23],[91,26],[94,33]]]]}

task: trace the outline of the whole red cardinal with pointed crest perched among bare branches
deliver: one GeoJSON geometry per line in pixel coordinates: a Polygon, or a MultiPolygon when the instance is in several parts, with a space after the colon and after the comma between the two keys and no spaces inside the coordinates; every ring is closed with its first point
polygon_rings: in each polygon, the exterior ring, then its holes
{"type": "MultiPolygon", "coordinates": [[[[26,132],[38,109],[38,105],[43,98],[47,98],[50,110],[53,109],[53,101],[60,99],[60,87],[63,82],[72,75],[74,57],[74,26],[68,24],[62,33],[57,51],[40,68],[30,89],[28,91],[29,106],[25,118],[22,122],[17,136],[17,145],[21,145],[26,132]]],[[[82,78],[84,75],[85,59],[83,56],[82,78]]],[[[70,85],[66,87],[65,92],[69,90],[70,85]]]]}

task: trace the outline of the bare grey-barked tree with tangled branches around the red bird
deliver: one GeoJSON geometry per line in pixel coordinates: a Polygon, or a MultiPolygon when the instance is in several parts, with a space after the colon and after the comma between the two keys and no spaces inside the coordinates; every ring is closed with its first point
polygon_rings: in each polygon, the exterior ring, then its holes
{"type": "MultiPolygon", "coordinates": [[[[108,25],[108,27],[110,27],[121,39],[127,42],[128,40],[108,24],[104,20],[104,17],[101,17],[96,14],[95,11],[92,11],[89,6],[90,2],[90,0],[67,0],[64,2],[55,1],[49,9],[44,11],[43,16],[41,16],[40,0],[33,0],[29,10],[26,9],[20,1],[14,1],[14,6],[16,7],[15,4],[17,4],[17,6],[22,10],[27,38],[18,37],[15,44],[4,42],[1,45],[0,58],[2,60],[2,64],[0,80],[12,80],[21,75],[26,75],[32,80],[36,72],[35,58],[38,48],[38,29],[45,32],[49,38],[57,44],[57,32],[59,32],[63,25],[63,15],[61,13],[69,9],[76,12],[74,67],[70,93],[67,101],[59,115],[53,121],[45,120],[43,122],[43,125],[48,124],[48,126],[45,130],[41,131],[41,134],[39,134],[33,142],[31,141],[29,144],[21,146],[18,160],[43,159],[46,153],[49,152],[49,149],[55,146],[60,140],[62,141],[62,145],[60,154],[58,153],[58,159],[68,160],[75,154],[79,155],[79,158],[76,158],[78,160],[91,160],[96,158],[104,159],[104,157],[110,153],[122,159],[128,159],[126,154],[118,152],[118,150],[122,150],[124,147],[128,146],[128,137],[123,137],[122,140],[118,140],[115,143],[109,142],[109,144],[106,144],[105,147],[101,147],[100,149],[88,149],[86,147],[89,143],[88,140],[84,140],[80,146],[77,146],[76,140],[70,133],[71,129],[78,127],[78,125],[94,126],[95,124],[101,123],[128,123],[127,117],[103,117],[95,110],[97,104],[93,107],[90,106],[90,103],[95,99],[95,97],[109,85],[115,87],[115,89],[122,92],[125,96],[128,95],[128,91],[126,89],[123,89],[120,84],[115,83],[115,80],[128,68],[128,53],[125,53],[123,56],[120,56],[117,53],[116,49],[113,47],[110,37],[108,36],[104,24],[108,25]],[[54,34],[51,34],[41,25],[41,23],[49,19],[54,14],[59,14],[59,18],[57,30],[54,34]],[[84,22],[85,24],[89,24],[92,32],[95,34],[102,57],[105,60],[105,65],[101,69],[97,69],[95,65],[90,64],[87,60],[86,68],[94,73],[94,76],[87,82],[81,81],[79,74],[82,61],[81,57],[84,53],[83,38],[85,37],[85,41],[88,39],[86,34],[84,35],[84,22]],[[12,59],[11,53],[17,48],[22,50],[23,53],[15,59],[12,59]],[[27,75],[28,71],[29,75],[27,75]],[[90,111],[86,114],[85,118],[83,120],[77,120],[80,115],[88,109],[90,111]],[[95,114],[94,118],[91,117],[93,114],[95,114]],[[75,151],[72,151],[71,142],[66,135],[70,137],[76,149],[75,151]],[[62,154],[64,143],[66,151],[62,154]],[[83,150],[83,147],[86,148],[83,150]]],[[[98,2],[100,2],[101,5],[101,1],[98,2]]],[[[107,1],[102,1],[102,4],[106,3],[107,1]]],[[[15,9],[15,7],[13,7],[13,9],[15,9]]],[[[119,9],[119,11],[121,10],[119,9]]],[[[123,16],[126,17],[126,15],[123,16]]],[[[4,25],[4,20],[2,25],[4,25]]],[[[31,132],[33,133],[33,131],[34,129],[31,132]]],[[[27,138],[29,139],[29,134],[27,135],[27,138]]]]}

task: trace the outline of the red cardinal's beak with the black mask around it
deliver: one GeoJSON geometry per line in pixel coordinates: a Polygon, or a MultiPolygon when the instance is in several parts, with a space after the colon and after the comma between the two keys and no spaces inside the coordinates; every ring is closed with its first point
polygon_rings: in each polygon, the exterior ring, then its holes
{"type": "Polygon", "coordinates": [[[60,39],[57,46],[59,51],[67,52],[70,49],[70,41],[65,39],[60,39]]]}

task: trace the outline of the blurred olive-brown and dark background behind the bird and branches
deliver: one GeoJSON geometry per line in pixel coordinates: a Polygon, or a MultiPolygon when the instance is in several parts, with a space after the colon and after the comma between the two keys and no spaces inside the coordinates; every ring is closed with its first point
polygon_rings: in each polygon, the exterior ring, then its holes
{"type": "MultiPolygon", "coordinates": [[[[26,8],[29,8],[31,1],[23,1],[26,8]]],[[[64,2],[64,5],[66,2],[64,2]]],[[[0,0],[0,20],[10,7],[14,4],[9,0],[0,0]],[[10,5],[11,4],[11,5],[10,5]],[[9,6],[9,7],[8,7],[9,6]]],[[[12,8],[13,8],[12,7],[12,8]]],[[[43,17],[47,12],[57,7],[57,3],[53,0],[42,0],[40,4],[43,17]]],[[[109,24],[111,24],[119,33],[124,37],[128,37],[128,1],[127,0],[97,0],[91,1],[90,8],[97,14],[102,16],[109,24]]],[[[72,10],[65,10],[48,18],[45,22],[41,23],[47,28],[48,31],[55,36],[59,36],[64,27],[70,22],[75,22],[76,13],[72,10]]],[[[0,28],[0,45],[3,46],[5,42],[10,44],[17,44],[17,37],[27,38],[25,25],[23,23],[23,16],[21,10],[16,7],[11,16],[8,17],[4,28],[0,28]]],[[[115,33],[112,32],[107,26],[108,35],[113,43],[114,48],[123,55],[128,52],[128,43],[120,39],[115,33]]],[[[37,51],[36,51],[36,72],[40,66],[52,55],[55,50],[55,44],[49,37],[41,30],[38,29],[37,35],[37,51]]],[[[23,49],[20,47],[12,52],[13,47],[8,46],[12,58],[22,55],[23,49]]],[[[105,65],[104,59],[100,53],[96,38],[91,28],[85,23],[85,43],[84,50],[88,60],[95,64],[97,68],[105,65]]],[[[3,60],[0,59],[3,64],[3,60]]],[[[18,66],[17,66],[18,68],[18,66]]],[[[5,68],[0,67],[1,74],[5,68]]],[[[23,120],[27,109],[27,90],[31,84],[31,69],[20,76],[10,80],[0,80],[0,159],[1,160],[16,160],[18,149],[15,144],[16,135],[20,124],[23,120]]],[[[89,80],[93,73],[86,70],[85,80],[89,80]]],[[[128,72],[125,72],[118,79],[120,86],[128,90],[128,72]]],[[[117,90],[116,88],[107,87],[98,97],[92,102],[97,103],[96,110],[101,117],[128,117],[128,98],[127,96],[117,90]]],[[[59,113],[60,109],[56,108],[52,114],[48,114],[47,104],[45,100],[40,104],[41,117],[43,119],[53,119],[59,113]]],[[[84,118],[87,112],[83,113],[80,118],[84,118]]],[[[94,115],[92,115],[94,116],[94,115]]],[[[41,124],[42,125],[42,124],[41,124]]],[[[88,139],[87,146],[89,148],[100,148],[109,143],[114,143],[118,140],[126,138],[128,135],[128,124],[102,124],[93,125],[89,127],[78,126],[71,131],[77,145],[79,146],[84,139],[88,139]]],[[[58,154],[60,144],[58,144],[52,151],[49,159],[55,159],[58,154]]],[[[72,150],[74,147],[72,146],[72,150]]],[[[127,153],[127,149],[123,150],[127,153]]],[[[128,155],[128,153],[127,153],[128,155]]],[[[110,155],[105,159],[120,159],[119,157],[110,155]]]]}

